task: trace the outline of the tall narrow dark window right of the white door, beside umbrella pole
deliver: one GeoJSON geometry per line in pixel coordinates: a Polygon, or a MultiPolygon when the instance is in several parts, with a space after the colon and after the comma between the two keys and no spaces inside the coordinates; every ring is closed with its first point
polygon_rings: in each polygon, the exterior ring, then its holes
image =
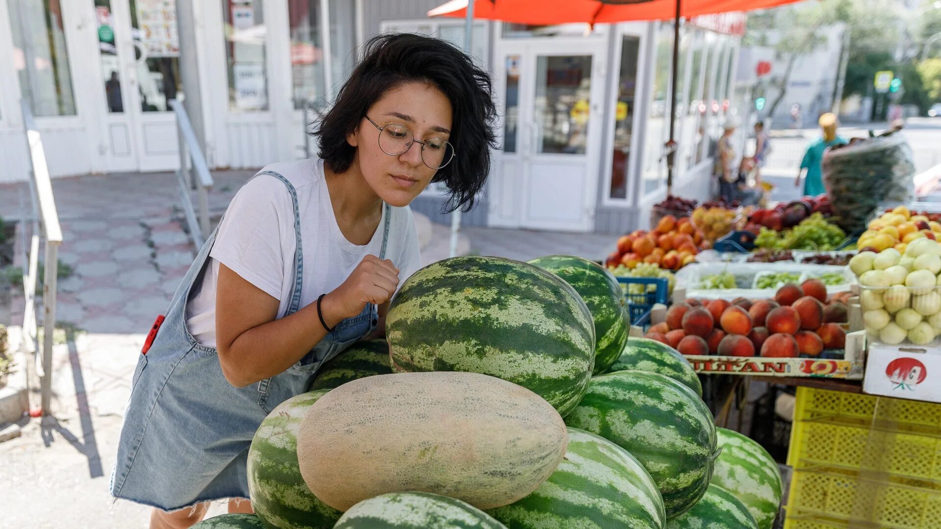
{"type": "Polygon", "coordinates": [[[613,157],[611,162],[612,199],[628,198],[630,145],[633,138],[634,106],[637,93],[637,54],[640,38],[625,35],[621,40],[621,66],[617,77],[617,102],[614,107],[613,157]]]}

